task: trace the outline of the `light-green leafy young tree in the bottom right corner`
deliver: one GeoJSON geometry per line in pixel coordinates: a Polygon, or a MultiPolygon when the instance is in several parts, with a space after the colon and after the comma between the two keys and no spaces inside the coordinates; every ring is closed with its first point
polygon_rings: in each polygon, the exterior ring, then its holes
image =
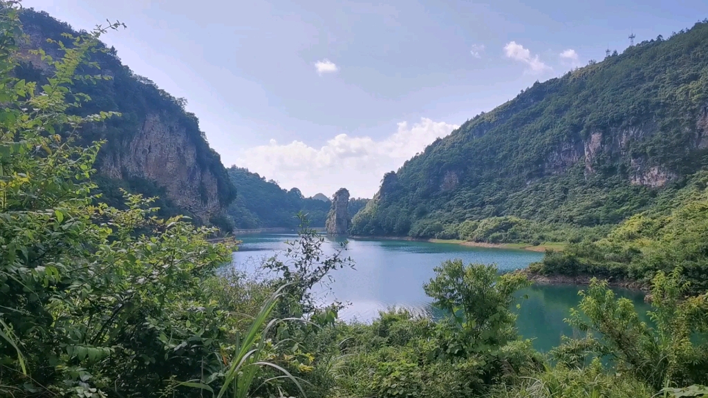
{"type": "Polygon", "coordinates": [[[566,319],[586,332],[584,339],[567,339],[554,350],[561,361],[579,365],[588,355],[609,356],[622,371],[660,390],[662,387],[708,382],[708,347],[696,345],[692,336],[708,331],[708,295],[684,297],[688,284],[681,282],[681,270],[653,278],[653,327],[641,321],[632,302],[615,300],[606,281],[593,279],[581,291],[580,311],[571,309],[566,319]]]}

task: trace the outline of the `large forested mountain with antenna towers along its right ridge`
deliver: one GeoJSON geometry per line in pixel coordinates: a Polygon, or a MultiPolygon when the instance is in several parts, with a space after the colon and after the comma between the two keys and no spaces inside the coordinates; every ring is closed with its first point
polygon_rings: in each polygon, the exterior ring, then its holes
{"type": "Polygon", "coordinates": [[[548,239],[543,231],[558,227],[606,232],[685,186],[708,163],[707,147],[704,21],[468,120],[384,176],[352,232],[461,237],[463,222],[467,237],[485,241],[529,231],[548,239]]]}

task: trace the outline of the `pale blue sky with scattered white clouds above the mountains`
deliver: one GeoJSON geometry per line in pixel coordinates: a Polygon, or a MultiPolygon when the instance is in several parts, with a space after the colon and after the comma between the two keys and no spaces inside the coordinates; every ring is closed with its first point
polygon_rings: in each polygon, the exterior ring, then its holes
{"type": "Polygon", "coordinates": [[[708,17],[690,1],[24,0],[188,110],[224,165],[370,197],[435,137],[544,81],[708,17]]]}

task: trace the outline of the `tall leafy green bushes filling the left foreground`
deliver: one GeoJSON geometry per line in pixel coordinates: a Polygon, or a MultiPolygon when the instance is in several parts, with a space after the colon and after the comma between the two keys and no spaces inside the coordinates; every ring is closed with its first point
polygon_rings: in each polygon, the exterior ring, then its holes
{"type": "Polygon", "coordinates": [[[65,36],[60,59],[38,51],[54,71],[38,86],[13,77],[23,35],[16,2],[0,1],[0,395],[243,397],[256,364],[287,352],[267,336],[280,296],[217,274],[233,249],[208,241],[217,229],[92,193],[101,142],[80,147],[77,134],[120,115],[74,115],[90,98],[72,84],[108,79],[90,57],[118,26],[65,36]]]}

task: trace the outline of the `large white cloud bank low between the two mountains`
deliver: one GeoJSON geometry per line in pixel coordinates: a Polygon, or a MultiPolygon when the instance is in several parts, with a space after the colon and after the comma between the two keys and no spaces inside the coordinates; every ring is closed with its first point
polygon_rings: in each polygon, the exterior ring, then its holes
{"type": "Polygon", "coordinates": [[[244,151],[236,164],[265,178],[273,178],[282,188],[299,188],[304,195],[321,192],[332,195],[348,188],[353,196],[371,198],[388,171],[397,170],[404,161],[458,125],[421,118],[419,123],[398,123],[398,129],[382,140],[340,134],[315,148],[301,141],[268,145],[244,151]]]}

